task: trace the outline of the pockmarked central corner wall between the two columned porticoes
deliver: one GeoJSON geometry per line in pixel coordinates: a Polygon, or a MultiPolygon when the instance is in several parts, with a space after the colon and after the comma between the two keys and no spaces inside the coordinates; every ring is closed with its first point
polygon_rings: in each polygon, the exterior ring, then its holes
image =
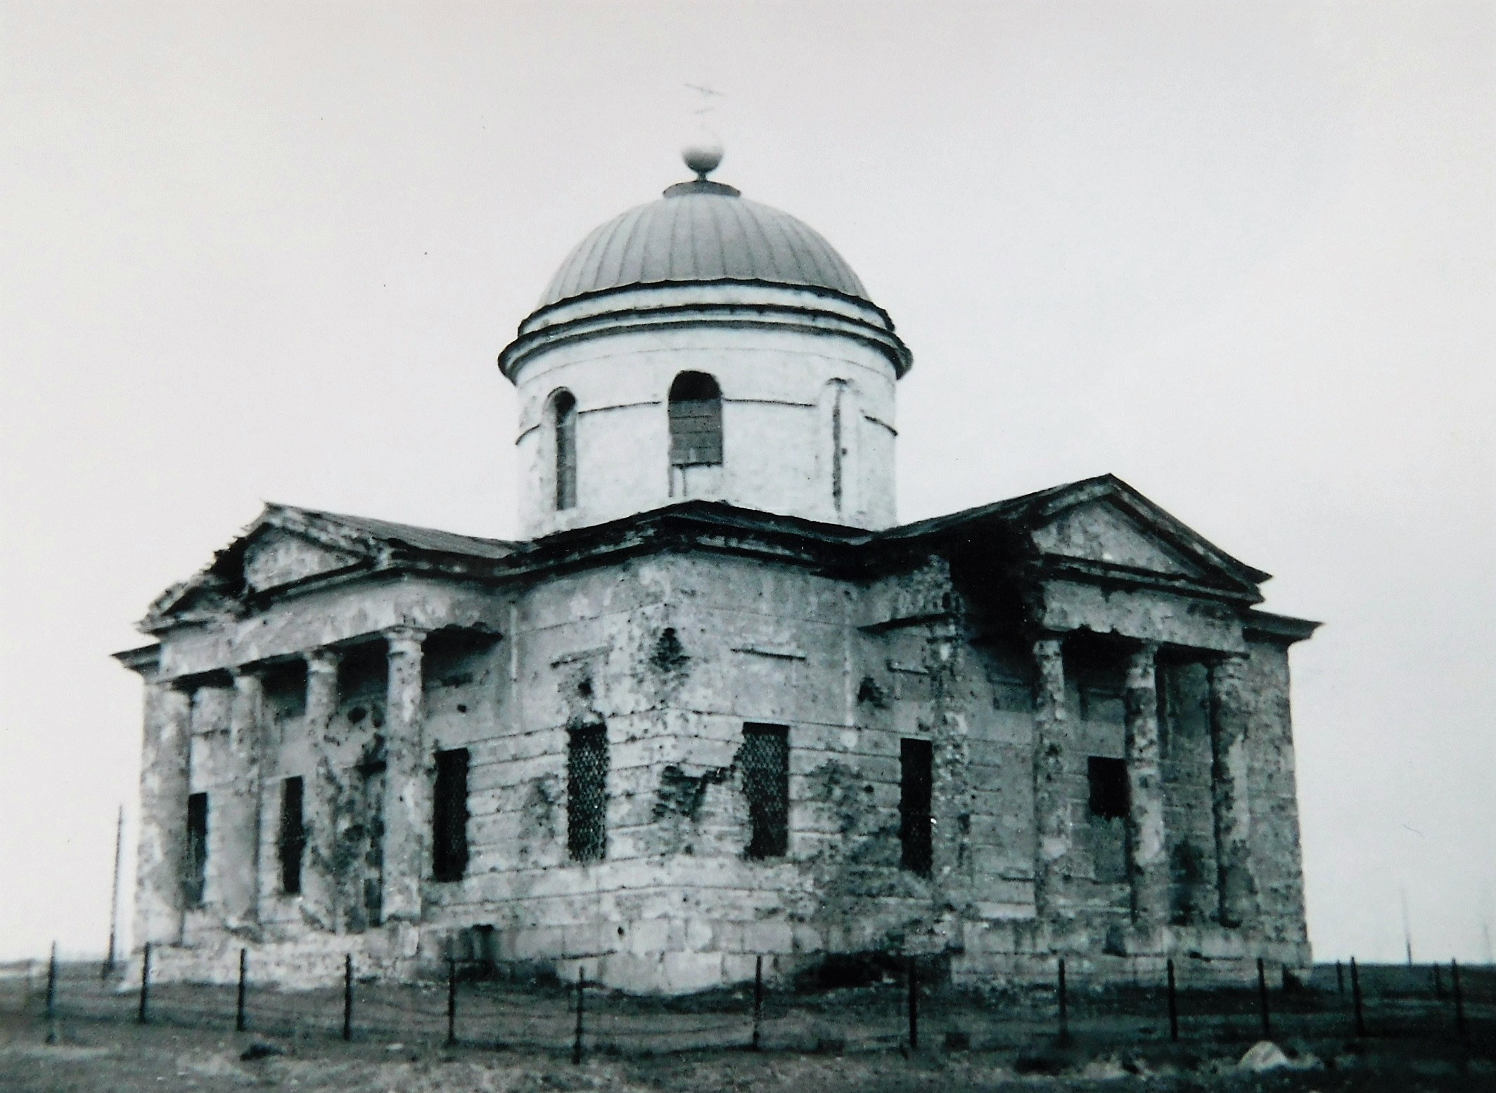
{"type": "Polygon", "coordinates": [[[755,954],[960,945],[1032,917],[1031,683],[971,646],[939,559],[863,586],[666,555],[516,600],[518,721],[474,758],[474,869],[444,906],[506,960],[625,987],[741,978],[755,954]],[[565,860],[565,730],[604,722],[609,852],[565,860]],[[748,861],[745,722],[790,731],[790,852],[748,861]],[[935,870],[899,867],[899,740],[935,742],[935,870]]]}

